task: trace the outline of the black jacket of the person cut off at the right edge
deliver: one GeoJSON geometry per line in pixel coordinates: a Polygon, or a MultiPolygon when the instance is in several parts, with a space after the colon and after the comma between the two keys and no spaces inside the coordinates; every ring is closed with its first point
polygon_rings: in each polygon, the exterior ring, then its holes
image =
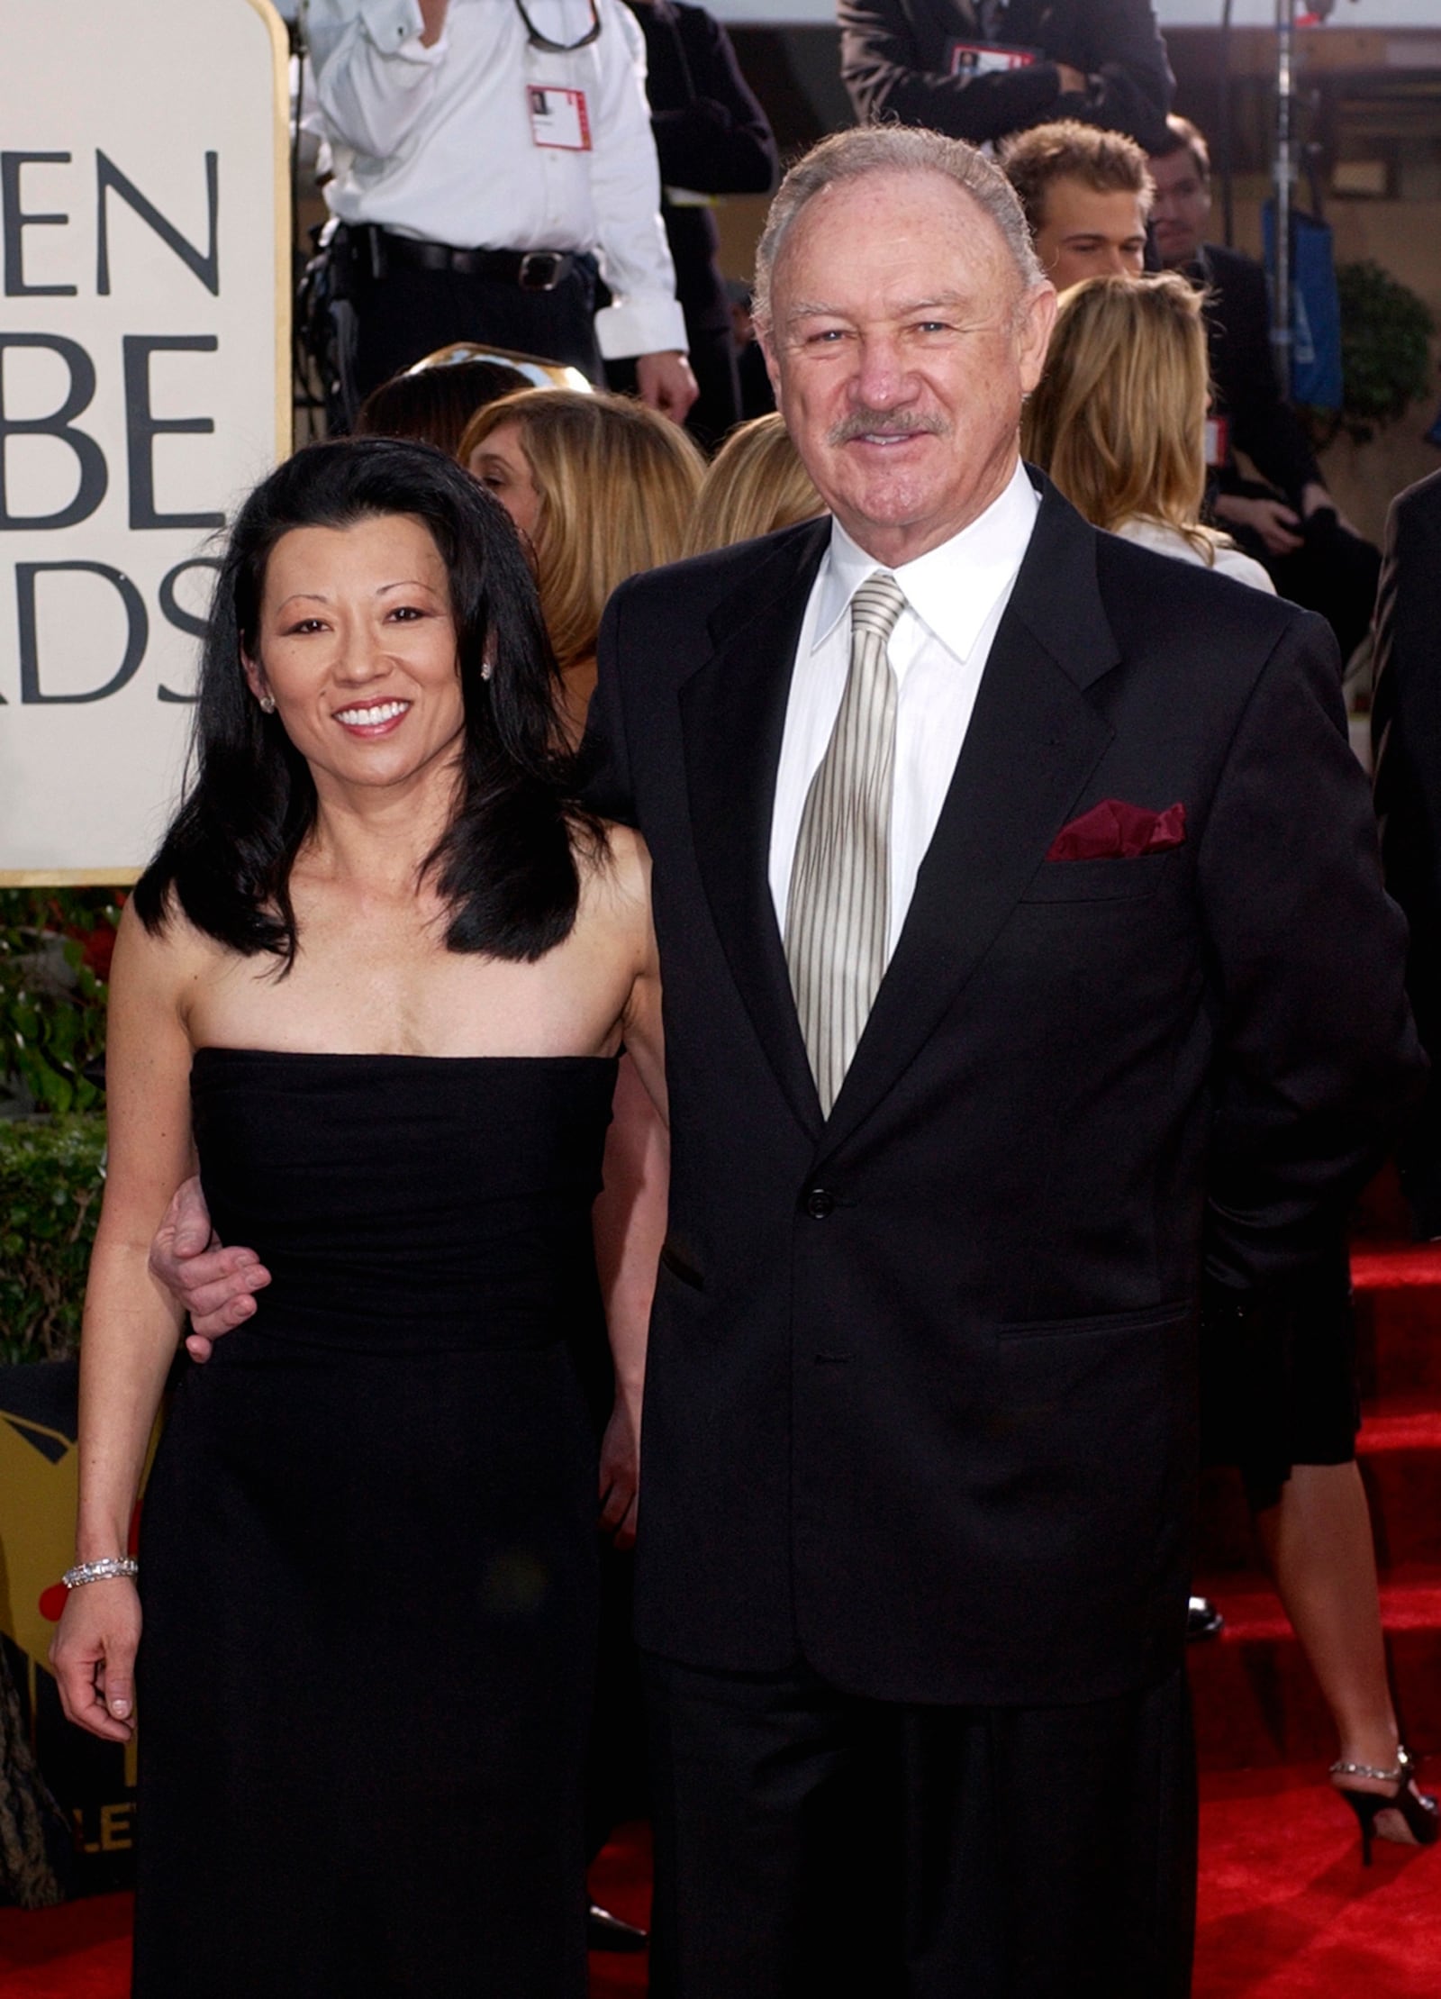
{"type": "MultiPolygon", "coordinates": [[[[1411,924],[1407,986],[1441,1059],[1441,472],[1391,504],[1375,608],[1375,808],[1387,888],[1411,924]]],[[[1441,1087],[1401,1153],[1419,1235],[1441,1235],[1441,1087]]]]}

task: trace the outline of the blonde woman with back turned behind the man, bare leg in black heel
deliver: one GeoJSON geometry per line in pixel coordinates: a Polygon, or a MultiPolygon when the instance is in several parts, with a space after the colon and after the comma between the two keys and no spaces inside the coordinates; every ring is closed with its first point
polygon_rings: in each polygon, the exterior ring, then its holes
{"type": "MultiPolygon", "coordinates": [[[[1085,518],[1275,594],[1259,562],[1199,524],[1209,398],[1201,294],[1173,272],[1087,278],[1061,298],[1021,448],[1085,518]]],[[[1339,692],[1339,666],[1337,666],[1339,692]]],[[[1275,1587],[1337,1727],[1331,1781],[1371,1839],[1431,1845],[1387,1685],[1345,1237],[1287,1299],[1293,1327],[1207,1323],[1201,1435],[1237,1465],[1275,1587]]]]}

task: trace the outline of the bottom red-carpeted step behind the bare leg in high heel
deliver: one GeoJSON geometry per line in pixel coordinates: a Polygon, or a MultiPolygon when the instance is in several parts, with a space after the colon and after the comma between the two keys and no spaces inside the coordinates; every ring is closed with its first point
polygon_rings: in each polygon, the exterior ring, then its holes
{"type": "MultiPolygon", "coordinates": [[[[1207,1575],[1197,1587],[1225,1617],[1191,1645],[1191,1695],[1203,1769],[1329,1763],[1335,1729],[1275,1591],[1257,1575],[1207,1575]]],[[[1407,1741],[1441,1749],[1441,1565],[1381,1585],[1391,1685],[1407,1741]]]]}

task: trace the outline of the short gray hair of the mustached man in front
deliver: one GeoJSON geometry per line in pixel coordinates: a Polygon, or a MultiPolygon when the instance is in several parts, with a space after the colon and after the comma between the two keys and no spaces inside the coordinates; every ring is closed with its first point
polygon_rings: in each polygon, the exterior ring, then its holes
{"type": "Polygon", "coordinates": [[[791,224],[821,188],[837,180],[861,180],[865,174],[943,174],[953,180],[999,230],[1015,264],[1021,298],[1045,284],[1015,190],[985,154],[925,126],[857,126],[811,146],[775,190],[755,248],[751,318],[761,332],[771,326],[771,280],[791,224]]]}

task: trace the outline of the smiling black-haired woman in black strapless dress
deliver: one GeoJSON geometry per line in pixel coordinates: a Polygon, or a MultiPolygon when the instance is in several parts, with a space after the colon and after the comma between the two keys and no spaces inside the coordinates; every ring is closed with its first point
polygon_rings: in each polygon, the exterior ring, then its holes
{"type": "MultiPolygon", "coordinates": [[[[82,1359],[72,1719],[140,1731],[136,1999],[578,1999],[622,1033],[644,852],[586,820],[500,510],[316,446],[220,576],[198,776],[126,912],[82,1359]],[[264,1305],[182,1367],[144,1245],[198,1153],[264,1305]]],[[[654,1251],[656,1201],[626,1255],[654,1251]]],[[[634,1295],[630,1273],[616,1295],[634,1295]]],[[[612,1511],[636,1479],[620,1311],[612,1511]]]]}

